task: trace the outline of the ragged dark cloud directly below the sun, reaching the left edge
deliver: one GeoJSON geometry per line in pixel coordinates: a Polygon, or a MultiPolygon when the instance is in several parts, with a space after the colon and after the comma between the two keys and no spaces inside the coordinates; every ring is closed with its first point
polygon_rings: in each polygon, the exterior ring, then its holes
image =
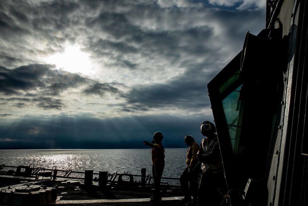
{"type": "Polygon", "coordinates": [[[62,110],[65,103],[57,97],[82,86],[87,86],[87,89],[80,91],[85,95],[103,97],[105,94],[116,94],[124,97],[123,92],[107,83],[99,83],[79,74],[62,75],[52,68],[52,65],[28,65],[15,69],[0,67],[0,93],[7,97],[2,100],[19,108],[35,105],[43,110],[62,110]]]}

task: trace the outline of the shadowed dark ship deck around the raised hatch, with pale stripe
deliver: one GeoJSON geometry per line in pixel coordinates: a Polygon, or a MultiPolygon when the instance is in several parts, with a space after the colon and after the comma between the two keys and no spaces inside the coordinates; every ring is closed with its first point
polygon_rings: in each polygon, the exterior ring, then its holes
{"type": "MultiPolygon", "coordinates": [[[[26,183],[56,188],[56,200],[44,205],[185,205],[180,203],[183,197],[181,197],[182,191],[179,187],[162,186],[162,200],[150,202],[150,197],[154,191],[152,185],[141,187],[108,183],[107,187],[102,188],[98,186],[97,182],[85,186],[83,179],[57,178],[57,180],[53,181],[50,178],[35,180],[34,178],[0,175],[1,192],[11,190],[8,189],[9,186],[10,188],[15,188],[26,183]]],[[[3,202],[3,198],[1,198],[0,205],[12,205],[3,202]]],[[[30,200],[26,205],[33,205],[33,203],[30,200]]]]}

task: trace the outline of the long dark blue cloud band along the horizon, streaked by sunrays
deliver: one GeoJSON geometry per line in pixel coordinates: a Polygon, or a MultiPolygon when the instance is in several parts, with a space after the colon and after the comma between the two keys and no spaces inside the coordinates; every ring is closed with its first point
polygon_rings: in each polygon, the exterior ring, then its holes
{"type": "Polygon", "coordinates": [[[41,120],[32,116],[17,120],[14,127],[0,128],[3,134],[0,149],[72,149],[72,145],[78,149],[144,148],[142,141],[152,140],[156,131],[163,133],[166,148],[181,148],[185,147],[182,140],[188,134],[201,141],[199,124],[209,118],[212,119],[206,116],[139,116],[101,120],[63,116],[57,120],[51,117],[41,120]],[[139,128],[137,133],[136,128],[139,128]]]}

